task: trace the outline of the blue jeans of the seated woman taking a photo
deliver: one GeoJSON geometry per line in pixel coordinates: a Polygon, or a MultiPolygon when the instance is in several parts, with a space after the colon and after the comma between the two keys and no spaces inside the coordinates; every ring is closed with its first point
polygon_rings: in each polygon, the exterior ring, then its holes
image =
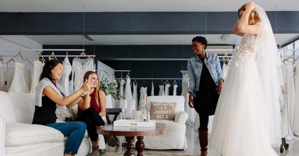
{"type": "Polygon", "coordinates": [[[84,138],[86,124],[84,122],[49,123],[46,126],[59,130],[64,136],[68,136],[65,144],[65,154],[75,155],[84,138]]]}

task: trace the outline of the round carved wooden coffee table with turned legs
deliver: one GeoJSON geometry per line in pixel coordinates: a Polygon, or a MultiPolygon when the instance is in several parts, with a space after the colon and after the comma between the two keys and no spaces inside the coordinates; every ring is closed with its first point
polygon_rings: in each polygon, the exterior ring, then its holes
{"type": "Polygon", "coordinates": [[[114,135],[114,136],[125,136],[126,138],[126,152],[124,156],[135,156],[134,149],[134,137],[137,136],[136,150],[138,152],[137,156],[142,156],[142,151],[144,150],[143,136],[151,135],[161,135],[164,133],[166,124],[156,123],[154,127],[118,127],[110,125],[102,126],[97,128],[97,134],[101,135],[114,135]]]}

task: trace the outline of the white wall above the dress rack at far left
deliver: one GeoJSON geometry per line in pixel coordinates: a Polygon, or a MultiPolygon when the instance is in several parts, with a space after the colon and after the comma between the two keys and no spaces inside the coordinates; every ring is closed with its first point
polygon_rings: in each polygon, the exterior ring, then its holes
{"type": "MultiPolygon", "coordinates": [[[[0,49],[42,49],[42,44],[33,41],[22,35],[22,42],[20,35],[0,35],[0,49]]],[[[12,57],[5,57],[5,55],[16,55],[19,51],[0,51],[0,55],[4,58],[4,63],[9,61],[12,57]]],[[[21,51],[23,58],[28,58],[33,64],[32,57],[25,55],[35,55],[37,51],[21,51]]],[[[37,58],[36,58],[37,59],[37,58]]],[[[21,60],[15,59],[17,62],[21,60]]]]}

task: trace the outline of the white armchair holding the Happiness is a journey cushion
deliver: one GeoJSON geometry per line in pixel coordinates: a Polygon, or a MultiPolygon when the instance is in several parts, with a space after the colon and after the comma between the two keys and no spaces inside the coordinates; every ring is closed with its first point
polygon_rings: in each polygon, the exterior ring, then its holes
{"type": "MultiPolygon", "coordinates": [[[[165,123],[164,134],[156,136],[144,136],[144,144],[147,149],[187,149],[186,125],[188,114],[184,111],[184,96],[149,96],[147,97],[147,109],[150,112],[153,102],[176,102],[175,120],[156,120],[156,123],[165,123]]],[[[150,114],[150,113],[149,113],[150,114]]],[[[134,113],[135,119],[140,119],[140,111],[134,113]]],[[[135,142],[137,140],[135,139],[135,142]]]]}

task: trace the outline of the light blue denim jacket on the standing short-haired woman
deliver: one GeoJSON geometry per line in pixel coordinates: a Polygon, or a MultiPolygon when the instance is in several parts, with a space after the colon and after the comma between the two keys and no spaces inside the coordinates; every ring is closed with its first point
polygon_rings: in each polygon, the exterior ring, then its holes
{"type": "MultiPolygon", "coordinates": [[[[221,79],[223,82],[225,81],[217,54],[209,54],[206,52],[205,65],[217,86],[221,79]]],[[[188,60],[187,68],[189,72],[189,87],[187,92],[192,92],[192,96],[196,97],[195,91],[199,91],[198,87],[200,74],[202,73],[202,61],[200,61],[196,55],[188,60]]]]}

